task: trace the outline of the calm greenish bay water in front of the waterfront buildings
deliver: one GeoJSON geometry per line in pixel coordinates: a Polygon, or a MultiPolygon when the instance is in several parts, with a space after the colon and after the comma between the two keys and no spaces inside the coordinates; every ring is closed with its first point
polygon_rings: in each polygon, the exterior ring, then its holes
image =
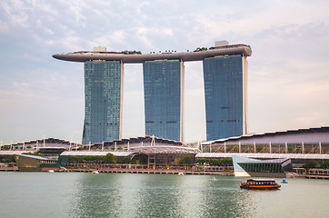
{"type": "Polygon", "coordinates": [[[328,180],[251,191],[243,178],[212,177],[0,173],[0,217],[329,217],[328,180]]]}

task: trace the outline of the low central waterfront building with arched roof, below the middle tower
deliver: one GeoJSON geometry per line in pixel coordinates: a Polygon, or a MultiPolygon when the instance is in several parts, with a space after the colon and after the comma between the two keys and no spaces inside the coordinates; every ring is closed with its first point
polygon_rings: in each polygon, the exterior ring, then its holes
{"type": "MultiPolygon", "coordinates": [[[[70,156],[105,156],[114,154],[116,157],[130,157],[132,164],[137,164],[140,169],[177,169],[192,167],[198,149],[191,148],[174,140],[155,136],[136,137],[102,144],[83,145],[75,151],[65,151],[61,154],[62,160],[70,156]],[[188,157],[191,163],[184,166],[182,159],[188,157]]],[[[126,166],[125,166],[126,167],[126,166]]]]}

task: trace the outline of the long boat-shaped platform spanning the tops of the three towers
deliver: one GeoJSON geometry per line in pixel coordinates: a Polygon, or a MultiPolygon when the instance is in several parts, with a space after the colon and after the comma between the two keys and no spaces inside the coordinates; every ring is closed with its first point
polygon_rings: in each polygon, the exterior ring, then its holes
{"type": "Polygon", "coordinates": [[[250,56],[252,50],[249,45],[226,45],[215,47],[206,51],[181,52],[181,53],[159,53],[159,54],[124,54],[119,52],[74,52],[69,54],[54,54],[53,57],[58,60],[71,62],[86,62],[91,60],[104,61],[122,61],[125,64],[144,63],[145,61],[155,60],[174,60],[179,59],[184,62],[201,61],[207,57],[219,55],[243,54],[250,56]]]}

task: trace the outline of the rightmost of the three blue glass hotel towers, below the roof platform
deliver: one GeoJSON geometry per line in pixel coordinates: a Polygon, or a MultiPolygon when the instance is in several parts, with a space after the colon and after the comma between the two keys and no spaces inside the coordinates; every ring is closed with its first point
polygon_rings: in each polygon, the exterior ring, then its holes
{"type": "Polygon", "coordinates": [[[208,141],[245,134],[245,63],[243,55],[204,59],[204,99],[208,141]]]}

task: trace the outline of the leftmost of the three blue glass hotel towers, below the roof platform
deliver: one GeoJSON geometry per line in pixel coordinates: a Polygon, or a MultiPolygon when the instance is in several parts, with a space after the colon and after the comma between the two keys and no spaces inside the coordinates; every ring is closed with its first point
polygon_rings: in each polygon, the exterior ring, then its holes
{"type": "Polygon", "coordinates": [[[85,63],[85,124],[82,144],[121,139],[123,64],[85,63]]]}

